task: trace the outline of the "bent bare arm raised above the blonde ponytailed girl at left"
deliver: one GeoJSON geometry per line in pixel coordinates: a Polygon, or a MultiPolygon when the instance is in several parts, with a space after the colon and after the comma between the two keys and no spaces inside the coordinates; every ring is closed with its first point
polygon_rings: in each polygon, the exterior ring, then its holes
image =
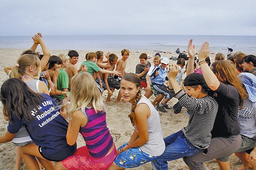
{"type": "Polygon", "coordinates": [[[48,50],[47,46],[44,44],[43,39],[38,34],[35,34],[35,36],[32,37],[32,39],[35,43],[40,44],[41,48],[43,50],[44,56],[40,61],[41,62],[41,70],[43,70],[50,59],[50,55],[51,55],[50,51],[48,50]]]}

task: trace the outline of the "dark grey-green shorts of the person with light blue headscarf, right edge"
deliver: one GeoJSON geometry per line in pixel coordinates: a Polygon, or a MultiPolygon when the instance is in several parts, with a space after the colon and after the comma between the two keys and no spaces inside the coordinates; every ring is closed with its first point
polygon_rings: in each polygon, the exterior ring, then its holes
{"type": "MultiPolygon", "coordinates": [[[[241,135],[241,137],[242,137],[242,144],[241,144],[240,148],[236,152],[245,152],[245,151],[255,147],[255,145],[256,145],[256,137],[249,138],[249,137],[246,137],[244,135],[241,135]]],[[[228,161],[228,156],[227,157],[218,158],[217,160],[219,160],[221,162],[227,162],[228,161]]]]}

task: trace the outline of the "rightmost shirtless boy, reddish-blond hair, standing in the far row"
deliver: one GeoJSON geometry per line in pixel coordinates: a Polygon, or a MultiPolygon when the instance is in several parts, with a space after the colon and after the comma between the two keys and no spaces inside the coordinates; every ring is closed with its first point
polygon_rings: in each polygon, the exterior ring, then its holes
{"type": "MultiPolygon", "coordinates": [[[[121,54],[122,54],[122,58],[120,60],[118,60],[117,65],[116,65],[116,70],[121,71],[121,75],[119,75],[119,77],[118,77],[119,81],[121,81],[123,76],[126,74],[125,67],[126,67],[127,59],[130,55],[130,51],[128,49],[123,49],[121,51],[121,54]]],[[[121,100],[121,94],[119,92],[117,99],[116,99],[116,103],[121,103],[120,100],[121,100]]]]}

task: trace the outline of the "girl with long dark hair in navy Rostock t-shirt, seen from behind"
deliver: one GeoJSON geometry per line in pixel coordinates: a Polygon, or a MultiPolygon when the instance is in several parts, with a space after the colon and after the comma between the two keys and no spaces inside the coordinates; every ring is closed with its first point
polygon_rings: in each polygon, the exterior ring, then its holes
{"type": "Polygon", "coordinates": [[[9,124],[0,143],[9,142],[22,126],[28,130],[33,143],[21,147],[21,156],[28,169],[39,169],[39,159],[61,161],[76,151],[76,143],[67,144],[68,122],[52,98],[36,94],[22,80],[10,78],[1,86],[0,100],[9,124]],[[31,161],[33,159],[33,161],[31,161]]]}

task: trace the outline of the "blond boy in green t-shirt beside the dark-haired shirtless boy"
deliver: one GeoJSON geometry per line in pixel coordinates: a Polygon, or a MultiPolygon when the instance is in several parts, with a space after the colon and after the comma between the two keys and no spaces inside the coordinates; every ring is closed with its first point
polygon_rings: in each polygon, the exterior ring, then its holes
{"type": "Polygon", "coordinates": [[[65,96],[69,96],[68,92],[68,73],[64,70],[64,68],[67,68],[68,62],[69,62],[69,56],[66,54],[60,54],[58,57],[60,57],[62,63],[60,64],[60,74],[57,79],[57,91],[55,92],[56,96],[64,99],[65,96]],[[63,94],[66,93],[66,94],[63,94]]]}

